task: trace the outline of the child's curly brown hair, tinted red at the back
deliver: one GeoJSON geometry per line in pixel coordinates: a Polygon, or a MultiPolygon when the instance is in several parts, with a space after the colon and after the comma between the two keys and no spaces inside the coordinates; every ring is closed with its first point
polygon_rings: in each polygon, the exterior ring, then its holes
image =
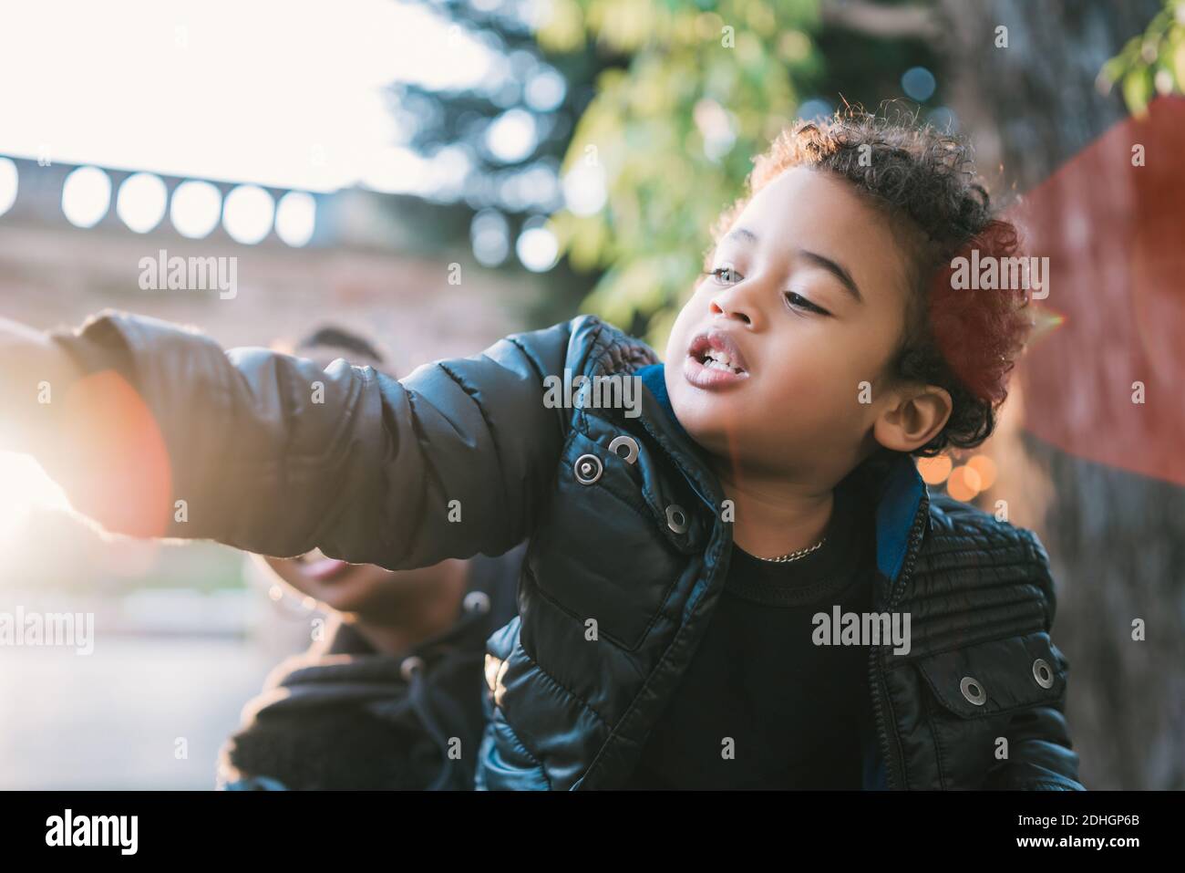
{"type": "Polygon", "coordinates": [[[1023,289],[952,287],[952,261],[978,249],[984,257],[1013,257],[1020,237],[993,214],[975,174],[966,140],[931,126],[890,121],[851,107],[826,121],[800,121],[758,157],[747,196],[713,227],[728,231],[749,198],[786,170],[818,167],[847,179],[891,217],[909,216],[925,236],[914,249],[914,283],[905,330],[889,371],[897,382],[944,388],[953,408],[942,431],[910,454],[933,457],[948,445],[972,448],[995,428],[1007,396],[1008,372],[1032,320],[1023,289]]]}

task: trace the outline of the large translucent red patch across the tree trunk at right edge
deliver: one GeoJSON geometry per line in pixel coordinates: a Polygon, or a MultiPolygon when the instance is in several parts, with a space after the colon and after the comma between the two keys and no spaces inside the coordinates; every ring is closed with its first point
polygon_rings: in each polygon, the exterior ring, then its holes
{"type": "Polygon", "coordinates": [[[1185,485],[1183,161],[1185,98],[1160,97],[1029,193],[1018,217],[1050,278],[1018,374],[1032,434],[1185,485]]]}

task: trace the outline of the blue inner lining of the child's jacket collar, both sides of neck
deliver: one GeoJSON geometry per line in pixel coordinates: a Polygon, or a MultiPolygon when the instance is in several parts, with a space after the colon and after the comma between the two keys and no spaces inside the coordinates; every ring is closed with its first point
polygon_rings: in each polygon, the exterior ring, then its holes
{"type": "MultiPolygon", "coordinates": [[[[675,418],[671,399],[667,395],[664,365],[661,363],[649,364],[639,369],[635,375],[642,380],[642,384],[649,389],[658,400],[659,407],[666,413],[660,429],[665,429],[666,435],[671,438],[675,447],[687,455],[684,459],[677,458],[677,460],[690,461],[690,459],[694,459],[698,474],[693,476],[692,484],[697,486],[700,498],[707,502],[715,511],[724,497],[723,491],[706,464],[703,450],[675,418]]],[[[646,409],[643,409],[645,420],[646,409]]],[[[659,422],[653,423],[659,426],[659,422]]],[[[670,451],[671,446],[667,448],[670,451]]],[[[683,463],[681,466],[686,469],[683,463]]],[[[865,482],[870,488],[869,493],[877,502],[877,569],[886,580],[895,582],[909,552],[910,530],[922,497],[925,495],[925,483],[922,480],[921,473],[917,472],[917,465],[912,458],[901,453],[893,453],[888,461],[870,458],[848,473],[848,477],[858,477],[865,482]]]]}

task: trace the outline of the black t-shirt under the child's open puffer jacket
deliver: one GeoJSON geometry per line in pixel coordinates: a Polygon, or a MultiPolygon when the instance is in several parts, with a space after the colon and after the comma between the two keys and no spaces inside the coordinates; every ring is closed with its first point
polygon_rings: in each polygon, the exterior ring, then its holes
{"type": "Polygon", "coordinates": [[[814,645],[812,617],[872,611],[876,528],[851,480],[834,499],[827,541],[805,557],[732,546],[711,624],[624,788],[860,788],[869,649],[814,645]]]}

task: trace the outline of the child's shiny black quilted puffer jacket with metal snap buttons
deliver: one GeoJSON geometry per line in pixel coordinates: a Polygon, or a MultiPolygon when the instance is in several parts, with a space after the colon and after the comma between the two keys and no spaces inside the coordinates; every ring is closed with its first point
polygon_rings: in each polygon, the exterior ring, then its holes
{"type": "MultiPolygon", "coordinates": [[[[224,353],[122,314],[62,342],[91,369],[122,369],[152,412],[169,491],[188,506],[185,521],[173,501],[159,508],[167,536],[274,555],[320,547],[395,569],[530,536],[519,616],[487,643],[476,785],[628,778],[707,626],[731,544],[724,493],[674,419],[653,350],[583,316],[396,382],[340,361],[322,372],[262,349],[224,353]],[[565,370],[639,376],[641,414],[545,403],[545,377],[565,370]]],[[[931,499],[907,455],[852,476],[877,503],[876,608],[909,611],[912,632],[905,655],[869,652],[865,788],[1082,789],[1040,542],[931,499]]]]}

